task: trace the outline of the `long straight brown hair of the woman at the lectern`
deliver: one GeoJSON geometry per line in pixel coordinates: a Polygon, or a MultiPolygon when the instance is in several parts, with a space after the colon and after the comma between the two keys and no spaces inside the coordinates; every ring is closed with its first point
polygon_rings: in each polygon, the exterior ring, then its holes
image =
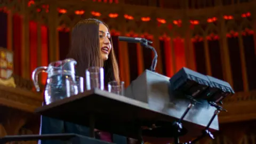
{"type": "MultiPolygon", "coordinates": [[[[103,61],[99,48],[99,24],[107,28],[106,23],[98,19],[85,19],[79,21],[72,30],[71,49],[67,58],[77,61],[76,75],[85,78],[85,70],[89,67],[103,67],[105,72],[105,84],[109,81],[119,82],[119,68],[112,48],[108,59],[103,61]]],[[[108,28],[109,30],[109,28],[108,28]]],[[[112,39],[110,38],[113,46],[112,39]]]]}

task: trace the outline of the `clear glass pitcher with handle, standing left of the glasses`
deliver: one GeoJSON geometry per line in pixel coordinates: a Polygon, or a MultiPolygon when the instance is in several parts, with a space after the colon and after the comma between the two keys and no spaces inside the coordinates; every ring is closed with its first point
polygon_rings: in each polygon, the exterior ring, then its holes
{"type": "Polygon", "coordinates": [[[40,91],[38,74],[41,72],[48,74],[44,91],[46,105],[78,93],[75,65],[74,59],[65,59],[52,62],[48,67],[38,67],[33,71],[32,79],[38,92],[40,91]]]}

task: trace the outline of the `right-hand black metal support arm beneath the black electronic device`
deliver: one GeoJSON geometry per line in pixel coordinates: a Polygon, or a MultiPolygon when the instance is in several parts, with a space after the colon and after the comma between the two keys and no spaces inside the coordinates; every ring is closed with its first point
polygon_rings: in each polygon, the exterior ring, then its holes
{"type": "Polygon", "coordinates": [[[207,124],[207,126],[205,127],[205,129],[202,132],[202,135],[200,135],[198,138],[196,138],[193,141],[189,141],[187,143],[184,144],[190,144],[190,143],[196,143],[197,141],[203,139],[204,137],[206,137],[207,135],[211,138],[214,139],[214,135],[208,130],[210,125],[213,122],[213,119],[220,113],[220,111],[227,111],[226,109],[223,109],[221,106],[219,106],[217,103],[215,102],[209,102],[211,106],[215,107],[216,110],[214,111],[214,114],[212,115],[209,123],[207,124]]]}

